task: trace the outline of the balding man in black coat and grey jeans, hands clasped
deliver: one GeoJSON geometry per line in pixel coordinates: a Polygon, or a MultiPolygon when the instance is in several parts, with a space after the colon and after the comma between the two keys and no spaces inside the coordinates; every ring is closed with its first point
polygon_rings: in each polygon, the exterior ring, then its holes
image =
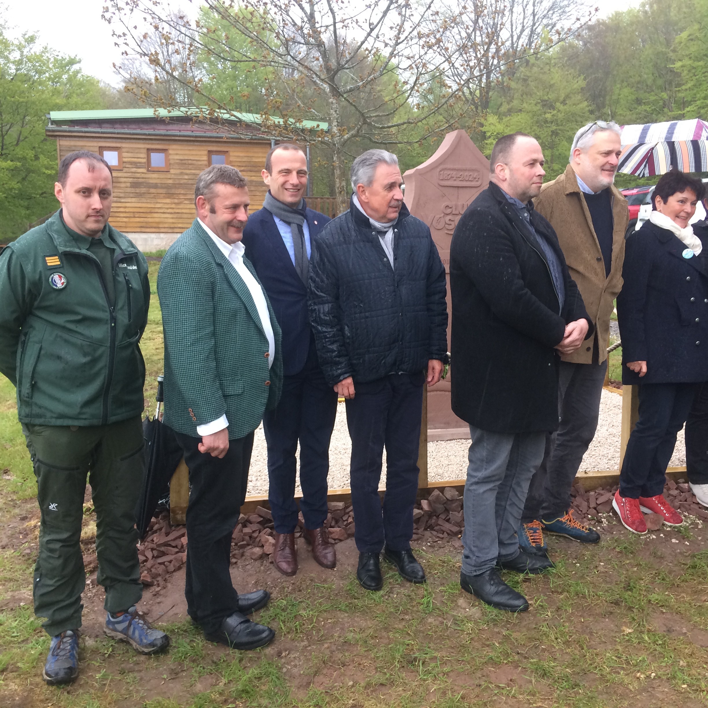
{"type": "Polygon", "coordinates": [[[511,612],[529,605],[498,569],[553,566],[523,552],[517,530],[546,434],[558,428],[559,355],[593,333],[556,233],[533,208],[543,164],[530,135],[498,139],[489,187],[459,219],[450,247],[452,410],[472,439],[460,584],[511,612]]]}

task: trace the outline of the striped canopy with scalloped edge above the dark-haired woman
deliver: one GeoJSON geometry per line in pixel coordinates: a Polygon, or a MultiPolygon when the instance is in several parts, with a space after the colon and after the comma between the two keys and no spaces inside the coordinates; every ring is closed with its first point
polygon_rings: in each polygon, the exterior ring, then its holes
{"type": "Polygon", "coordinates": [[[619,172],[649,177],[674,167],[708,172],[708,122],[697,118],[622,126],[619,172]]]}

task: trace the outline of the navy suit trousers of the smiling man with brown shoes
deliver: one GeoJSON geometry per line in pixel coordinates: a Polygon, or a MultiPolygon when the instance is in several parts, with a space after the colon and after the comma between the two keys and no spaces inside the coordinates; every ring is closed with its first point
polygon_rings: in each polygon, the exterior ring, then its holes
{"type": "Polygon", "coordinates": [[[297,526],[295,479],[300,443],[300,509],[305,527],[319,529],[327,518],[329,440],[337,415],[337,394],[324,379],[314,337],[299,374],[283,377],[280,402],[263,416],[268,445],[268,501],[278,533],[297,526]]]}

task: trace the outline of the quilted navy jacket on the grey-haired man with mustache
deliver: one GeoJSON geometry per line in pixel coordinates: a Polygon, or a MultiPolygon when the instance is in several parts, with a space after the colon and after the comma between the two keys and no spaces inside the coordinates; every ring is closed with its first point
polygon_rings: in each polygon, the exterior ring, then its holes
{"type": "Polygon", "coordinates": [[[314,237],[309,311],[327,381],[426,370],[447,352],[445,268],[430,229],[401,207],[394,266],[352,203],[314,237]]]}

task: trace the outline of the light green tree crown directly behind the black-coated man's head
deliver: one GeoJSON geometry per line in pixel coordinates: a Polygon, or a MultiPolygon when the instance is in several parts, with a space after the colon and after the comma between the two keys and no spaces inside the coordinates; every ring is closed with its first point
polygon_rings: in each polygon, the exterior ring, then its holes
{"type": "Polygon", "coordinates": [[[486,153],[502,135],[527,132],[543,148],[546,180],[557,177],[568,164],[573,135],[590,120],[584,86],[581,76],[564,66],[558,55],[532,59],[510,81],[498,114],[486,120],[486,153]]]}

